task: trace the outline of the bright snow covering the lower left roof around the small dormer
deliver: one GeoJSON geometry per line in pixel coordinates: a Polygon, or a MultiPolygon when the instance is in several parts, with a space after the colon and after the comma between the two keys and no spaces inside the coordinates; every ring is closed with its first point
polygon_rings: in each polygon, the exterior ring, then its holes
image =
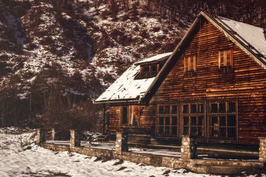
{"type": "MultiPolygon", "coordinates": [[[[171,54],[172,53],[160,54],[150,58],[145,58],[145,62],[167,59],[171,54]]],[[[155,77],[135,79],[135,76],[139,73],[140,68],[139,65],[135,65],[136,63],[139,63],[139,60],[130,66],[114,83],[112,83],[108,89],[95,100],[95,102],[136,100],[138,98],[142,98],[149,85],[154,81],[155,77]]]]}

